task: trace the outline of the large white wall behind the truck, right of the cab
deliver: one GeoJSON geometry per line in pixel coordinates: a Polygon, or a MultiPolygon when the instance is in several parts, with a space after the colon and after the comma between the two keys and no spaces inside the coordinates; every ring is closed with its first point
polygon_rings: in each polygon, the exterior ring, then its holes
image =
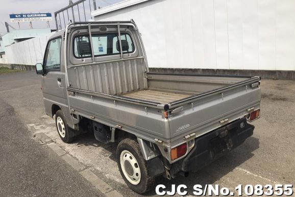
{"type": "Polygon", "coordinates": [[[92,15],[133,18],[150,67],[295,70],[293,0],[150,0],[100,15],[119,6],[92,15]]]}

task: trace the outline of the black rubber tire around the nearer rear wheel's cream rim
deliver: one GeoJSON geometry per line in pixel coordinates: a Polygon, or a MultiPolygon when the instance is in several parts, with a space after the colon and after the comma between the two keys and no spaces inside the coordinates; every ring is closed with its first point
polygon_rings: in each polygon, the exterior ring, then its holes
{"type": "MultiPolygon", "coordinates": [[[[124,153],[123,153],[123,155],[124,155],[124,153]]],[[[140,147],[139,147],[139,144],[137,143],[136,139],[130,139],[130,138],[123,139],[117,146],[116,159],[117,159],[120,174],[129,188],[131,188],[133,191],[135,191],[136,193],[139,193],[139,194],[149,191],[153,188],[155,178],[150,176],[150,172],[149,172],[149,169],[147,168],[146,160],[144,160],[144,158],[141,154],[140,147]],[[135,157],[135,159],[138,163],[139,171],[140,171],[140,181],[138,184],[132,184],[127,179],[124,172],[122,171],[122,166],[120,164],[120,156],[123,151],[124,152],[129,151],[130,153],[132,153],[132,156],[135,157]]],[[[128,162],[128,161],[125,161],[124,163],[126,163],[126,162],[128,162]]],[[[129,165],[129,164],[127,164],[127,165],[129,165]]],[[[126,166],[126,164],[125,164],[125,166],[126,166]]],[[[125,168],[125,166],[123,166],[123,167],[125,168]]],[[[125,172],[126,172],[126,170],[125,170],[125,172]]],[[[134,175],[135,172],[132,171],[131,173],[134,175]]]]}

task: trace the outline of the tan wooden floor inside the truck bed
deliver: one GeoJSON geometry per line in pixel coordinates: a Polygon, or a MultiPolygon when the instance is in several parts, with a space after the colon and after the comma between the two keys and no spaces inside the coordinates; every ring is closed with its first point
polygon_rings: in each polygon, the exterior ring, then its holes
{"type": "Polygon", "coordinates": [[[177,94],[170,92],[154,91],[154,90],[141,90],[124,94],[123,96],[130,98],[137,98],[142,100],[156,101],[160,103],[169,103],[188,97],[186,94],[177,94]]]}

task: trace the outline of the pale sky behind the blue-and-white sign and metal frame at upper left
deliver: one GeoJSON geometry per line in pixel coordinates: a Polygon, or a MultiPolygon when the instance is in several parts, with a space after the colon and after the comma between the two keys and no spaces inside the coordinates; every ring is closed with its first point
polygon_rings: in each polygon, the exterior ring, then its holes
{"type": "MultiPolygon", "coordinates": [[[[78,0],[73,0],[76,2],[78,0]]],[[[106,7],[111,4],[115,4],[122,0],[96,0],[96,7],[106,7]]],[[[91,5],[93,0],[90,0],[91,5]]],[[[12,25],[15,29],[18,29],[18,24],[10,22],[9,14],[21,14],[21,13],[52,13],[53,20],[50,21],[51,29],[56,29],[54,12],[68,6],[68,0],[0,0],[0,35],[6,34],[5,21],[12,25]]],[[[92,7],[93,8],[93,7],[92,7]]],[[[79,7],[80,12],[83,9],[82,4],[79,7]]],[[[78,9],[75,8],[75,18],[78,18],[78,9]],[[77,15],[77,16],[76,16],[77,15]]],[[[89,0],[85,1],[86,18],[90,18],[89,0]]],[[[66,12],[65,18],[67,20],[66,12]]],[[[84,14],[83,14],[84,15],[84,14]]],[[[81,16],[81,20],[84,16],[81,16]]],[[[59,20],[59,18],[58,18],[59,20]]],[[[63,17],[61,15],[61,24],[63,26],[63,17]]],[[[67,22],[67,21],[66,21],[67,22]]],[[[45,28],[46,22],[32,22],[33,28],[45,28]]],[[[20,23],[20,29],[30,29],[29,22],[20,23]]]]}

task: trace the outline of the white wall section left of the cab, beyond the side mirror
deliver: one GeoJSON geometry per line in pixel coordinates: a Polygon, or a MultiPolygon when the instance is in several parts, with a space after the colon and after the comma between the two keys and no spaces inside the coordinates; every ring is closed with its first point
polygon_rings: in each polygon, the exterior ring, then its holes
{"type": "Polygon", "coordinates": [[[42,63],[48,38],[54,33],[38,36],[5,47],[8,64],[35,65],[42,63]]]}

